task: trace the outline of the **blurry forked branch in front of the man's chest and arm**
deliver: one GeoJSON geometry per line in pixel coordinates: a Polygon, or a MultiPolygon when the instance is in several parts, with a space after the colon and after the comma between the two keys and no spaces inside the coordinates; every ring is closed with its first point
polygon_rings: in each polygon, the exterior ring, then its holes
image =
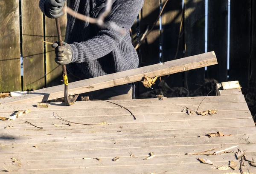
{"type": "Polygon", "coordinates": [[[124,35],[125,34],[125,29],[120,28],[119,26],[116,25],[116,23],[105,23],[105,18],[108,16],[108,14],[111,11],[111,7],[113,4],[113,0],[107,0],[107,6],[105,7],[105,11],[103,11],[98,18],[93,18],[93,17],[89,17],[89,16],[85,16],[83,14],[80,14],[76,11],[73,11],[72,9],[70,9],[69,7],[67,7],[67,14],[70,14],[73,17],[76,17],[79,20],[83,20],[86,21],[88,23],[94,23],[96,25],[98,25],[101,28],[106,28],[108,26],[110,26],[112,29],[114,29],[115,31],[118,31],[120,34],[124,35]]]}

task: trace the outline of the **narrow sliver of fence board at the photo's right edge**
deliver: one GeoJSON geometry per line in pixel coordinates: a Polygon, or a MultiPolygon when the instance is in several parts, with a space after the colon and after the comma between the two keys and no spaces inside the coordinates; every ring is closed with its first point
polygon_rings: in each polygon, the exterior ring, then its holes
{"type": "Polygon", "coordinates": [[[256,87],[256,0],[253,0],[252,4],[252,46],[251,51],[251,77],[250,77],[250,85],[256,87]]]}

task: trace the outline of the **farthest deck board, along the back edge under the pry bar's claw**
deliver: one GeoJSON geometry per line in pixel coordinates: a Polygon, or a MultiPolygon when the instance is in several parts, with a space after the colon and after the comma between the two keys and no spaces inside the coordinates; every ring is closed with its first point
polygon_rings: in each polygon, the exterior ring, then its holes
{"type": "MultiPolygon", "coordinates": [[[[228,90],[229,91],[229,90],[228,90]]],[[[227,91],[227,92],[228,92],[227,91]]],[[[232,91],[232,90],[231,90],[232,91]]],[[[224,92],[224,91],[223,91],[224,92]]],[[[224,93],[226,94],[226,93],[224,93]]],[[[119,106],[113,104],[119,104],[125,107],[157,107],[157,106],[182,106],[186,105],[198,105],[202,102],[205,97],[177,97],[177,98],[164,98],[163,100],[158,99],[135,99],[135,100],[111,100],[112,103],[105,101],[87,101],[76,102],[76,105],[70,107],[63,107],[63,103],[49,103],[48,108],[36,108],[33,104],[9,104],[2,105],[0,113],[13,112],[16,110],[26,110],[31,111],[49,111],[49,110],[59,110],[59,109],[88,109],[88,108],[119,108],[119,106]]],[[[243,95],[226,95],[226,96],[208,96],[202,102],[203,104],[215,104],[215,103],[245,103],[243,95]]],[[[182,109],[181,107],[181,109],[182,109]]]]}

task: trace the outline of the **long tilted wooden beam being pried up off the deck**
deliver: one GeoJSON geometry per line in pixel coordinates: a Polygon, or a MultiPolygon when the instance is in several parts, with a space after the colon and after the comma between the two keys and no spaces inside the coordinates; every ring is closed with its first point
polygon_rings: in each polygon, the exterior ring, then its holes
{"type": "MultiPolygon", "coordinates": [[[[159,63],[70,83],[69,92],[70,94],[81,94],[84,92],[140,81],[144,75],[147,75],[148,77],[164,76],[199,67],[210,66],[216,63],[216,56],[214,52],[209,52],[178,60],[172,60],[166,63],[159,63]]],[[[60,97],[64,97],[63,85],[44,88],[20,97],[0,99],[0,103],[19,103],[20,101],[23,103],[32,103],[52,100],[60,97]]]]}

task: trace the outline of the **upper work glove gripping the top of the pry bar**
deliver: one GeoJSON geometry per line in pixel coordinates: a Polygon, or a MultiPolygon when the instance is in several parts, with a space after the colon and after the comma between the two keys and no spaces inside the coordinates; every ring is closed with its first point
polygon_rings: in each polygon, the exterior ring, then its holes
{"type": "Polygon", "coordinates": [[[46,0],[44,3],[45,15],[54,19],[61,17],[64,3],[65,0],[46,0]]]}

